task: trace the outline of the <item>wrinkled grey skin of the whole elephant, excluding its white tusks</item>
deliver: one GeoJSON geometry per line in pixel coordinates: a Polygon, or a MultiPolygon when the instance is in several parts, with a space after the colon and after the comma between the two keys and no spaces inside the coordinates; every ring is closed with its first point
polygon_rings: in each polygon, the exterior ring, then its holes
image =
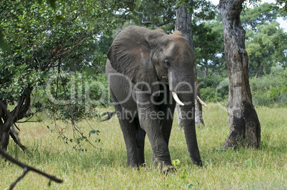
{"type": "Polygon", "coordinates": [[[168,35],[161,29],[129,26],[116,36],[107,55],[106,75],[124,134],[128,167],[144,164],[147,134],[153,160],[163,168],[173,168],[168,139],[176,102],[171,91],[185,104],[188,152],[201,166],[193,117],[195,56],[188,40],[179,31],[168,35]]]}

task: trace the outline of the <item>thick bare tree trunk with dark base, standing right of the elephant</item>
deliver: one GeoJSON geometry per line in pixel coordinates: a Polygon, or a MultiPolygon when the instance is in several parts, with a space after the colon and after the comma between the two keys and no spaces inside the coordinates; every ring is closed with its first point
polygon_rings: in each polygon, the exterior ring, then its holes
{"type": "Polygon", "coordinates": [[[248,80],[248,55],[245,50],[245,31],[240,13],[244,0],[220,0],[218,9],[223,21],[224,46],[228,66],[228,122],[230,132],[222,149],[236,148],[243,142],[259,147],[261,127],[252,104],[248,80]]]}

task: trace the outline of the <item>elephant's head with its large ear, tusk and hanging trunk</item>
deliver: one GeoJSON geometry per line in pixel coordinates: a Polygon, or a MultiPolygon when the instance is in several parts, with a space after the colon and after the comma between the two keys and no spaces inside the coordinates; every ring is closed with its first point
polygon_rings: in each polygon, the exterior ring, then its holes
{"type": "Polygon", "coordinates": [[[195,56],[189,41],[179,31],[168,35],[161,29],[129,26],[116,36],[107,55],[111,66],[140,84],[140,90],[156,96],[160,82],[168,85],[186,113],[183,128],[191,159],[201,165],[193,117],[195,56]]]}

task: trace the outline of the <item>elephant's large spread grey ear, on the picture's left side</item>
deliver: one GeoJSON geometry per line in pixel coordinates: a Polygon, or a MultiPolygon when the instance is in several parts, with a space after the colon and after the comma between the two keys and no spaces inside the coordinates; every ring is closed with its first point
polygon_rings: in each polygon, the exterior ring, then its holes
{"type": "MultiPolygon", "coordinates": [[[[129,77],[140,90],[154,93],[159,90],[156,69],[151,62],[151,41],[164,31],[129,26],[116,36],[107,56],[111,66],[129,77]]],[[[166,33],[165,33],[166,34],[166,33]]]]}

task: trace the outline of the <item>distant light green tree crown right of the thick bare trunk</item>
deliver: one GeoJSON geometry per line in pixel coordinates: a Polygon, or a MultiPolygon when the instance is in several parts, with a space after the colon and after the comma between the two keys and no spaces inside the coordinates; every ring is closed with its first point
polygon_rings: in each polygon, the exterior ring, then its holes
{"type": "Polygon", "coordinates": [[[246,51],[249,55],[249,70],[251,73],[270,73],[271,67],[286,66],[287,33],[276,22],[263,23],[257,26],[257,31],[246,33],[246,51]]]}

